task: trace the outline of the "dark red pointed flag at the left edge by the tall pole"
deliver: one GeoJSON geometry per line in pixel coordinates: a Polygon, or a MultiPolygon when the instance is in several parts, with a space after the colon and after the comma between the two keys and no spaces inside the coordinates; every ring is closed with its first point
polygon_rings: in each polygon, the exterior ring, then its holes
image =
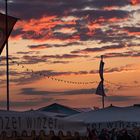
{"type": "Polygon", "coordinates": [[[0,55],[2,53],[6,41],[8,40],[10,33],[12,32],[15,23],[17,22],[17,18],[7,16],[7,22],[8,29],[6,37],[6,15],[0,13],[0,55]]]}

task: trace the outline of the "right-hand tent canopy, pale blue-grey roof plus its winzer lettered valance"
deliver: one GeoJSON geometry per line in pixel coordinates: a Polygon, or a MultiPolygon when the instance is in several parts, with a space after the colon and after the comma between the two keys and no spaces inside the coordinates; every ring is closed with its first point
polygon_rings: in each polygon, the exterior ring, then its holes
{"type": "Polygon", "coordinates": [[[92,128],[133,128],[140,126],[140,107],[114,107],[89,111],[66,118],[84,122],[92,128]]]}

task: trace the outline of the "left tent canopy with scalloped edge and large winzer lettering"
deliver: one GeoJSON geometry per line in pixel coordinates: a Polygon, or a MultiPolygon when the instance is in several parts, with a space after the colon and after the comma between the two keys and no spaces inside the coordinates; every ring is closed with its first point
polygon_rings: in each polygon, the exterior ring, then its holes
{"type": "Polygon", "coordinates": [[[42,111],[0,111],[0,134],[6,132],[9,136],[16,131],[21,135],[26,131],[29,135],[33,130],[37,134],[43,130],[46,134],[54,131],[58,134],[63,131],[66,134],[70,131],[72,134],[85,132],[85,124],[82,122],[67,121],[63,118],[55,117],[56,114],[42,111]]]}

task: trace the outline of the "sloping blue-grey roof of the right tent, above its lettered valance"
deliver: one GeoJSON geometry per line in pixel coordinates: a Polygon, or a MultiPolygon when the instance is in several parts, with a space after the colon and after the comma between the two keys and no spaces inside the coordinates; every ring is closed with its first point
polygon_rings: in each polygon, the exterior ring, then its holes
{"type": "Polygon", "coordinates": [[[67,120],[83,121],[85,123],[97,122],[140,122],[140,107],[107,107],[96,111],[84,112],[72,115],[66,118],[67,120]]]}

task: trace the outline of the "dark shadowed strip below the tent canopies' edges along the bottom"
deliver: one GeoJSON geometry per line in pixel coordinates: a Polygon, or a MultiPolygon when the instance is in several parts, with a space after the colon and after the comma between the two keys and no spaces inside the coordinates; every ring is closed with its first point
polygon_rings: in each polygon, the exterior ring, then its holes
{"type": "Polygon", "coordinates": [[[140,140],[140,128],[134,128],[133,130],[107,130],[97,131],[96,129],[87,129],[86,136],[80,136],[78,132],[73,135],[71,132],[67,132],[65,135],[62,131],[55,134],[54,131],[50,131],[48,135],[43,130],[37,135],[33,130],[31,135],[28,136],[27,131],[23,131],[21,136],[16,131],[13,131],[11,136],[7,136],[6,132],[2,132],[0,140],[140,140]]]}

